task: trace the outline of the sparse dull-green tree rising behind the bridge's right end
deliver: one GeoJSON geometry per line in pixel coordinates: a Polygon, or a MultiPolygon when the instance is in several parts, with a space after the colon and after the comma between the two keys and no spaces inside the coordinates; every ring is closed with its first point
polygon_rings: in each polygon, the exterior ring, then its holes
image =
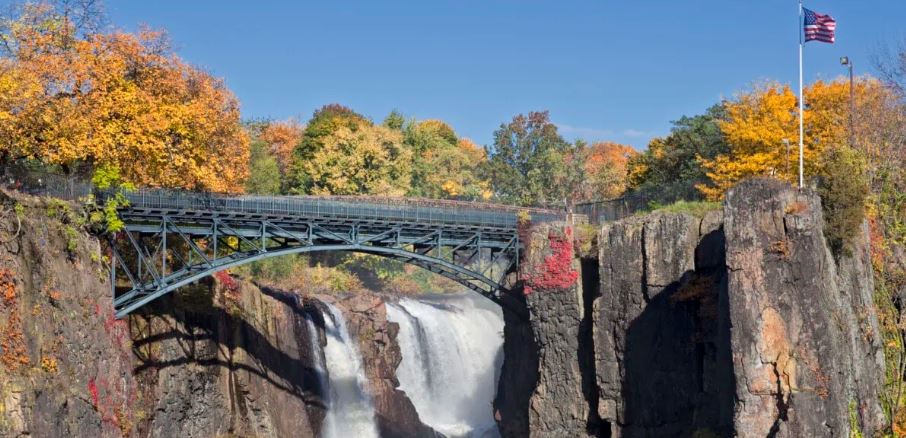
{"type": "Polygon", "coordinates": [[[570,144],[557,133],[547,111],[519,114],[494,132],[486,174],[494,195],[519,205],[564,205],[569,188],[570,144]]]}

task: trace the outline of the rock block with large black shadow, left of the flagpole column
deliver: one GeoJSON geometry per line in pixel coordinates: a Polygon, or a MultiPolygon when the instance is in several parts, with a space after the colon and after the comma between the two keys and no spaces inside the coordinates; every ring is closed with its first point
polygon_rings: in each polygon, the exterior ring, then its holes
{"type": "Polygon", "coordinates": [[[617,436],[729,434],[733,380],[719,212],[606,224],[598,246],[600,417],[617,436]]]}

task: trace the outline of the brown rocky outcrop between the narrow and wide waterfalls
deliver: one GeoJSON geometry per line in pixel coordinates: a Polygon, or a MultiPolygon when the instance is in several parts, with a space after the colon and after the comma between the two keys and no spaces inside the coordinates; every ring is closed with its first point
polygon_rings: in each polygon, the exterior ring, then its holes
{"type": "MultiPolygon", "coordinates": [[[[334,301],[332,297],[319,298],[334,301]]],[[[358,340],[381,436],[437,436],[433,429],[419,420],[415,406],[406,393],[396,389],[399,386],[396,369],[403,360],[396,342],[399,325],[387,320],[384,299],[360,293],[338,299],[335,304],[343,311],[349,333],[358,340]]]]}

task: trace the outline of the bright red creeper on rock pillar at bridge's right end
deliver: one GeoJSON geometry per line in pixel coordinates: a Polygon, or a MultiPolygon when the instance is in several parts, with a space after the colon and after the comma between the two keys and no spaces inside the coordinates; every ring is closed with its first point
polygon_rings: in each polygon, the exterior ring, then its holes
{"type": "Polygon", "coordinates": [[[563,290],[572,287],[579,279],[579,272],[573,269],[572,228],[566,227],[565,235],[551,231],[548,234],[551,254],[544,258],[535,272],[523,272],[526,295],[540,290],[563,290]]]}

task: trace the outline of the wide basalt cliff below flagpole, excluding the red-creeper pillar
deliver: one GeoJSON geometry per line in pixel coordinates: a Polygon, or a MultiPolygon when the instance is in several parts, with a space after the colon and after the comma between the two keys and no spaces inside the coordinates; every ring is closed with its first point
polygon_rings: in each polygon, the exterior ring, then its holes
{"type": "Polygon", "coordinates": [[[599,415],[620,436],[866,436],[884,364],[865,233],[835,260],[819,198],[753,180],[703,219],[599,234],[599,415]],[[851,420],[854,418],[854,420],[851,420]]]}

